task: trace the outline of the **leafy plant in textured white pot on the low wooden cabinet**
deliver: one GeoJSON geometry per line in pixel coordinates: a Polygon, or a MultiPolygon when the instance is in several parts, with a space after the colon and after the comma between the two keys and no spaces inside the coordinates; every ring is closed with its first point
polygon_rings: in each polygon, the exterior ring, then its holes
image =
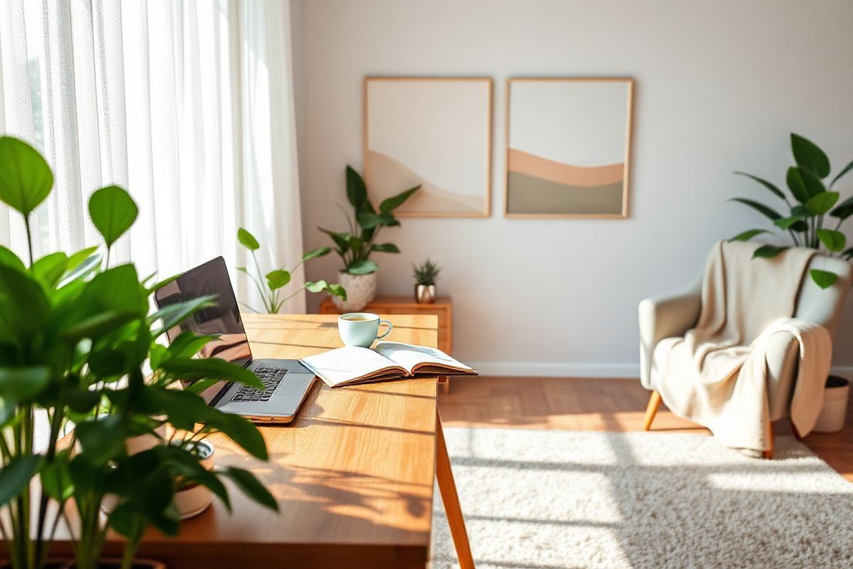
{"type": "Polygon", "coordinates": [[[338,272],[338,282],[346,289],[346,298],[333,296],[332,301],[339,311],[359,311],[376,295],[376,270],[379,265],[370,259],[373,253],[400,253],[393,243],[377,243],[382,228],[400,224],[393,211],[411,197],[421,186],[407,189],[380,203],[377,210],[368,199],[367,186],[361,175],[346,166],[346,199],[354,213],[344,213],[349,231],[342,233],[320,229],[334,241],[334,250],[344,262],[338,272]]]}

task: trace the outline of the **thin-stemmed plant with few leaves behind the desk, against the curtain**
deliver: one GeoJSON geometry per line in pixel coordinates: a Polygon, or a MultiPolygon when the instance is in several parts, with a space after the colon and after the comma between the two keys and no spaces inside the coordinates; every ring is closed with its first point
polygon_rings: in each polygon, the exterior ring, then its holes
{"type": "MultiPolygon", "coordinates": [[[[290,283],[291,276],[293,276],[293,272],[299,268],[300,264],[305,263],[306,261],[310,261],[312,258],[323,257],[328,255],[332,251],[329,247],[318,247],[314,249],[314,251],[309,251],[302,256],[302,260],[296,264],[295,267],[291,270],[285,270],[283,267],[281,269],[270,270],[269,273],[264,277],[263,272],[261,271],[260,264],[258,264],[258,255],[255,254],[258,249],[261,248],[260,243],[255,238],[254,235],[249,233],[246,229],[240,228],[237,230],[237,241],[240,241],[240,244],[243,247],[246,247],[249,253],[252,255],[252,261],[255,266],[255,275],[252,275],[246,267],[237,267],[237,270],[242,273],[246,273],[246,276],[252,280],[255,287],[258,289],[258,293],[261,295],[261,299],[264,299],[264,311],[269,314],[278,314],[278,311],[281,310],[281,305],[287,301],[287,299],[292,299],[294,296],[299,294],[302,290],[307,290],[310,293],[322,293],[323,291],[328,292],[334,298],[339,298],[342,300],[346,300],[346,290],[344,287],[341,287],[339,284],[329,284],[328,282],[323,281],[314,281],[314,282],[305,282],[301,287],[297,288],[292,294],[286,296],[283,299],[278,298],[278,292],[282,287],[287,286],[290,283]],[[264,284],[261,284],[261,283],[264,284]]],[[[253,309],[251,306],[246,305],[245,303],[240,303],[245,306],[252,312],[258,312],[253,309]]]]}

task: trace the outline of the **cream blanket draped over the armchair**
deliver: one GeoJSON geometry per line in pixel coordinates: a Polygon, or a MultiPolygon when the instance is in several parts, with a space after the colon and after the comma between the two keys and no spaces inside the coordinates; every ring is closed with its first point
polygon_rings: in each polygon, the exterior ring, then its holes
{"type": "Polygon", "coordinates": [[[756,247],[719,242],[708,258],[696,328],[662,340],[651,383],[666,406],[727,446],[771,448],[767,346],[774,334],[799,342],[791,419],[805,436],[815,426],[832,360],[826,328],[792,318],[809,260],[806,249],[752,260],[756,247]]]}

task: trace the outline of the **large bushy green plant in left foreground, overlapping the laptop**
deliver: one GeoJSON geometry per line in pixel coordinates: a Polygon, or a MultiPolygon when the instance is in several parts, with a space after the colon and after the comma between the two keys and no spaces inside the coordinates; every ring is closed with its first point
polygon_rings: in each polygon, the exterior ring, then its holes
{"type": "Polygon", "coordinates": [[[175,494],[187,481],[206,486],[229,506],[222,482],[229,478],[253,500],[277,508],[252,473],[208,471],[199,455],[163,438],[164,425],[224,433],[267,459],[252,423],[208,407],[199,395],[223,379],[260,387],[254,374],[224,360],[194,358],[211,337],[184,332],[168,347],[158,342],[214,299],[152,313],[151,295],[170,279],[141,279],[133,264],[109,266],[113,244],[138,212],[117,186],[98,189],[89,200],[103,255],[90,247],[34,258],[30,213],[53,183],[37,150],[0,137],[0,200],[23,216],[30,244],[26,263],[0,247],[0,532],[11,566],[47,566],[64,517],[74,529],[73,566],[106,566],[101,551],[112,529],[127,538],[121,566],[131,567],[148,526],[165,535],[179,530],[175,494]],[[35,447],[37,413],[49,422],[45,450],[35,447]],[[113,508],[105,516],[108,500],[113,508]]]}

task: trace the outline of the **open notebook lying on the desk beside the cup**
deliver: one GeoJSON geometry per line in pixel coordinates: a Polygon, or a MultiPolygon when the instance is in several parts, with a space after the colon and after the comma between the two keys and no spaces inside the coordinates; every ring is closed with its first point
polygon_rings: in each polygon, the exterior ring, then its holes
{"type": "Polygon", "coordinates": [[[377,342],[376,347],[347,345],[299,360],[329,387],[401,380],[417,375],[476,375],[444,351],[424,345],[377,342]]]}

